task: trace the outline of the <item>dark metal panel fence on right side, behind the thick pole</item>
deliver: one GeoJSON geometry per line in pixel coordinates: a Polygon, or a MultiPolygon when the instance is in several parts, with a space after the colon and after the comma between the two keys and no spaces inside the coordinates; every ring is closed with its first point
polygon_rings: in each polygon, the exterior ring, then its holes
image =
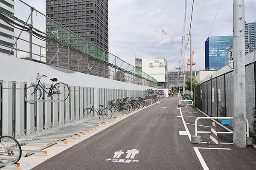
{"type": "MultiPolygon", "coordinates": [[[[254,118],[255,109],[255,76],[256,62],[245,66],[245,95],[246,95],[246,119],[250,128],[254,118]]],[[[244,95],[244,94],[242,94],[244,95]]],[[[233,71],[209,79],[196,87],[195,106],[209,116],[219,117],[221,108],[224,108],[226,117],[233,117],[233,71]]],[[[233,127],[233,120],[230,120],[233,127]]]]}

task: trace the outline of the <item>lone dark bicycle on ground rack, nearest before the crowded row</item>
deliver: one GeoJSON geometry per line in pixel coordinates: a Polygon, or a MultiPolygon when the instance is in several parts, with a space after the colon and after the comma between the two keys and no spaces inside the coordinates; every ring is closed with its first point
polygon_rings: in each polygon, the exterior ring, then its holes
{"type": "MultiPolygon", "coordinates": [[[[93,102],[94,103],[94,102],[93,102]]],[[[94,112],[97,113],[97,115],[102,116],[104,119],[110,119],[112,117],[112,111],[108,108],[102,108],[104,107],[104,105],[99,105],[101,108],[97,109],[93,106],[93,103],[91,103],[90,108],[86,108],[84,109],[84,116],[89,117],[89,118],[93,118],[94,116],[94,112]]]]}

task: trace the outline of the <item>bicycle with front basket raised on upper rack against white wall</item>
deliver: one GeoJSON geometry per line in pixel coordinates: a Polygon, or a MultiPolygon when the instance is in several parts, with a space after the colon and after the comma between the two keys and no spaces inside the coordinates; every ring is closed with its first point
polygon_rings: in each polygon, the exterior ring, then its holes
{"type": "MultiPolygon", "coordinates": [[[[57,82],[58,79],[57,78],[52,78],[52,79],[50,79],[52,81],[51,87],[46,88],[46,87],[44,87],[44,85],[40,81],[41,77],[47,77],[47,76],[46,75],[39,75],[39,73],[38,73],[35,77],[35,82],[33,82],[33,80],[30,80],[30,83],[32,85],[30,85],[25,90],[25,100],[29,100],[29,101],[26,101],[26,102],[28,102],[30,104],[36,103],[37,101],[35,101],[35,100],[39,100],[41,98],[41,95],[42,95],[42,91],[41,91],[40,88],[42,88],[45,91],[45,93],[47,94],[47,97],[52,96],[52,98],[54,100],[63,100],[63,101],[65,101],[67,99],[67,97],[70,94],[70,88],[67,86],[67,84],[65,84],[64,82],[58,82],[55,85],[53,85],[53,83],[57,82]],[[47,90],[49,90],[49,91],[47,92],[47,90]]],[[[44,99],[44,97],[42,99],[44,99]]]]}

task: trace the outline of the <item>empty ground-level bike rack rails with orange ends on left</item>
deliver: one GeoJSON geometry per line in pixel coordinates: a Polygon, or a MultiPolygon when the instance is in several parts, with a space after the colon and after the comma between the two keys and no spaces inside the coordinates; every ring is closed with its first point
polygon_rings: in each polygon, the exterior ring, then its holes
{"type": "MultiPolygon", "coordinates": [[[[129,114],[129,113],[128,113],[129,114]]],[[[67,144],[67,140],[76,140],[82,135],[96,130],[100,126],[106,125],[106,123],[111,123],[117,120],[117,117],[124,116],[123,113],[115,113],[110,119],[99,119],[98,116],[93,118],[81,118],[75,122],[65,122],[65,123],[55,123],[50,127],[38,127],[32,130],[25,130],[24,132],[17,132],[15,139],[20,144],[21,147],[37,147],[36,150],[21,149],[21,157],[28,157],[32,154],[47,154],[47,147],[55,144],[67,144]],[[47,128],[46,128],[47,127],[47,128]],[[30,144],[30,145],[29,145],[30,144]]],[[[17,152],[17,149],[13,149],[17,152]]],[[[15,163],[0,163],[0,168],[3,166],[13,166],[20,167],[20,163],[15,161],[15,163]]]]}

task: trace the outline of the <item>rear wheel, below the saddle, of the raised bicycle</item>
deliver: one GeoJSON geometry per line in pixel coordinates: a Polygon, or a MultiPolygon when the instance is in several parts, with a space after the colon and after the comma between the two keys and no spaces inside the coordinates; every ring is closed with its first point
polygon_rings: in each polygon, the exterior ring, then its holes
{"type": "Polygon", "coordinates": [[[68,86],[62,82],[59,82],[54,85],[52,88],[52,98],[54,100],[63,100],[65,101],[70,94],[70,89],[68,86]]]}

